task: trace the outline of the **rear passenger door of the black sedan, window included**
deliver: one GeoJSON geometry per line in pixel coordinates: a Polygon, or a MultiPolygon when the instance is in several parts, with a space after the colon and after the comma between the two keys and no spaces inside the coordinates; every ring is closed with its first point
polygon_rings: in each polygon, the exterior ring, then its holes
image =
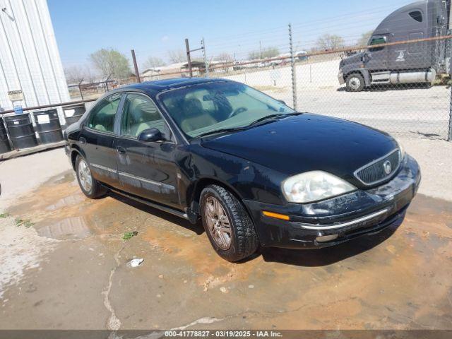
{"type": "Polygon", "coordinates": [[[119,180],[114,121],[121,97],[122,93],[117,93],[98,102],[91,109],[79,138],[95,179],[115,187],[119,185],[119,180]]]}

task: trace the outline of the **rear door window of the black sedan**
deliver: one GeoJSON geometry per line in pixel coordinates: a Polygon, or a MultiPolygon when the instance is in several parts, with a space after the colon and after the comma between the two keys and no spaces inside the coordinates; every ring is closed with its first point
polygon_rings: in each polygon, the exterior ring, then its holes
{"type": "Polygon", "coordinates": [[[97,131],[113,133],[114,117],[119,102],[121,102],[121,93],[110,95],[95,105],[90,113],[88,127],[97,131]]]}

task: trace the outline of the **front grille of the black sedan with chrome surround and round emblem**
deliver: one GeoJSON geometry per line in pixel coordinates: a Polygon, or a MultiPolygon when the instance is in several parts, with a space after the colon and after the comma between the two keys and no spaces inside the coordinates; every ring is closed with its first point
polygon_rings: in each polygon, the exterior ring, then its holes
{"type": "Polygon", "coordinates": [[[400,165],[400,151],[393,150],[392,153],[381,159],[374,160],[369,165],[357,169],[355,177],[363,184],[373,185],[392,177],[400,165]],[[391,171],[388,171],[388,164],[391,164],[391,171]],[[386,167],[386,171],[385,171],[386,167]],[[388,172],[387,172],[388,171],[388,172]]]}

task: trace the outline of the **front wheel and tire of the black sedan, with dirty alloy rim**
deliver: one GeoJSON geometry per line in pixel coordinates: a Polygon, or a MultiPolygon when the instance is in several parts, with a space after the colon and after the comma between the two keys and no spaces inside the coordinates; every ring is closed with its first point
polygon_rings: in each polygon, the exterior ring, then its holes
{"type": "MultiPolygon", "coordinates": [[[[227,261],[236,262],[254,254],[258,248],[258,237],[254,224],[246,212],[242,203],[222,186],[209,185],[201,192],[201,219],[203,220],[203,226],[206,230],[206,234],[212,244],[213,249],[219,256],[227,261]],[[212,203],[217,201],[224,213],[217,213],[216,224],[215,220],[215,208],[212,209],[212,203]],[[223,214],[227,217],[229,222],[229,234],[223,232],[223,236],[218,236],[219,228],[226,230],[225,219],[223,214]],[[216,228],[220,224],[219,228],[216,228]],[[216,228],[216,236],[214,232],[216,228]],[[230,243],[219,241],[219,239],[226,239],[229,235],[230,243]]],[[[214,206],[215,207],[215,206],[214,206]]],[[[217,206],[218,207],[218,206],[217,206]]],[[[227,239],[226,239],[227,240],[227,239]]]]}

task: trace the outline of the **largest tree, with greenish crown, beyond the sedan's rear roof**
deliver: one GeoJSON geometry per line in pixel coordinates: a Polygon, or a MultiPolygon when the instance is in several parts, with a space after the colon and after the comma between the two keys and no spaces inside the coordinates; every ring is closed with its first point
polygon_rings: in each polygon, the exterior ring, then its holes
{"type": "Polygon", "coordinates": [[[131,75],[129,59],[115,49],[100,49],[90,55],[90,60],[102,76],[126,78],[131,75]]]}

